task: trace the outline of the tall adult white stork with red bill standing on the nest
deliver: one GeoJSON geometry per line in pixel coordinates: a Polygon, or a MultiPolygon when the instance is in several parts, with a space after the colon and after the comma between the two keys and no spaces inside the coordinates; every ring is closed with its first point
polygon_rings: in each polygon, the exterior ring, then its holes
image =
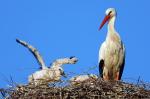
{"type": "Polygon", "coordinates": [[[125,47],[114,26],[116,15],[114,8],[108,8],[99,27],[108,21],[107,37],[99,50],[99,72],[105,81],[120,80],[125,64],[125,47]]]}

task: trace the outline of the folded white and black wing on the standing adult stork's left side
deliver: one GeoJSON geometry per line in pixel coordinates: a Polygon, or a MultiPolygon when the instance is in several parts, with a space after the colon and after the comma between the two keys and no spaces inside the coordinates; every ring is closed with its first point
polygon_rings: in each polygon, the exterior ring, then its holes
{"type": "Polygon", "coordinates": [[[102,43],[100,50],[99,50],[99,74],[103,78],[103,68],[105,65],[105,42],[102,43]]]}

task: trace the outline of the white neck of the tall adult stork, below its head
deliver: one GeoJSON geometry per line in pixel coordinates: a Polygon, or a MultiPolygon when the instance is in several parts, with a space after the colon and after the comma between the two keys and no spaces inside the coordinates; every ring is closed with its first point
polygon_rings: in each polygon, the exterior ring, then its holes
{"type": "Polygon", "coordinates": [[[115,19],[116,16],[113,16],[108,22],[107,39],[117,40],[120,38],[119,34],[115,30],[115,19]]]}

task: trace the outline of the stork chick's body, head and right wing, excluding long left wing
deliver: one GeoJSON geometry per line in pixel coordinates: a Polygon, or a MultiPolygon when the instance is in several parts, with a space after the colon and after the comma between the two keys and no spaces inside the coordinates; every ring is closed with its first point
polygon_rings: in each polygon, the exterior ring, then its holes
{"type": "Polygon", "coordinates": [[[50,68],[45,68],[39,71],[36,71],[32,75],[29,76],[29,83],[34,83],[35,85],[50,83],[60,81],[62,76],[65,76],[62,66],[64,64],[75,64],[77,62],[77,58],[63,58],[57,59],[52,63],[50,68]]]}

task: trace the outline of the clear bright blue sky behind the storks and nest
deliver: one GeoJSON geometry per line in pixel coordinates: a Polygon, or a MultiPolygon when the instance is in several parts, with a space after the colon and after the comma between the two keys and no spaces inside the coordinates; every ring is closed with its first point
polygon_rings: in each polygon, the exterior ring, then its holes
{"type": "MultiPolygon", "coordinates": [[[[76,56],[66,73],[80,74],[98,64],[98,51],[107,25],[98,31],[105,10],[117,10],[116,30],[126,47],[123,80],[150,81],[149,0],[1,0],[0,1],[0,87],[10,76],[17,83],[39,66],[33,55],[16,43],[19,38],[35,46],[46,64],[61,57],[76,56]]],[[[89,73],[98,74],[98,67],[89,73]]]]}

